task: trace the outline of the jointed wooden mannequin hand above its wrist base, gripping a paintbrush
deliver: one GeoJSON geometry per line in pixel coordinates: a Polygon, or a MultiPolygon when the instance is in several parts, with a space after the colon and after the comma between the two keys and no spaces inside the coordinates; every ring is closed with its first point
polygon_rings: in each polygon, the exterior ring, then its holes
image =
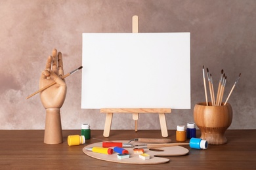
{"type": "Polygon", "coordinates": [[[57,50],[53,50],[53,56],[47,59],[45,70],[42,72],[39,88],[43,88],[52,82],[56,82],[50,88],[43,90],[40,93],[41,103],[45,109],[58,108],[60,109],[65,101],[67,86],[66,82],[60,78],[64,75],[62,54],[57,50]]]}

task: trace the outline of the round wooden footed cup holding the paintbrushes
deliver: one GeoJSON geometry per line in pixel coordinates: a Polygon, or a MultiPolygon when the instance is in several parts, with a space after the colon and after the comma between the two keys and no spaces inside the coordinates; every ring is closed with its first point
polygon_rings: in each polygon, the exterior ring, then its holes
{"type": "Polygon", "coordinates": [[[201,131],[201,139],[209,144],[225,144],[224,133],[232,122],[232,107],[228,103],[221,106],[198,103],[194,107],[194,121],[201,131]]]}

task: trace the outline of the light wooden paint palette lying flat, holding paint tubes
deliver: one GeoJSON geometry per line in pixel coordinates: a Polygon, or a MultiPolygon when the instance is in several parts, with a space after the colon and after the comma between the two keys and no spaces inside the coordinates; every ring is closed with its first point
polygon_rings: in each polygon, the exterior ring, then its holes
{"type": "MultiPolygon", "coordinates": [[[[121,142],[121,143],[127,143],[127,141],[114,141],[114,142],[121,142]]],[[[136,143],[136,144],[141,144],[141,143],[136,143]]],[[[91,148],[91,147],[102,147],[102,142],[100,143],[93,143],[85,146],[83,148],[83,152],[87,154],[88,156],[91,156],[93,158],[96,158],[98,160],[104,160],[104,161],[112,161],[116,163],[131,163],[131,164],[159,164],[159,163],[165,163],[170,161],[167,158],[161,158],[161,157],[156,157],[156,156],[182,156],[188,154],[188,149],[184,148],[182,146],[169,146],[169,147],[163,147],[163,148],[158,148],[158,150],[152,150],[148,148],[144,148],[144,153],[150,155],[149,160],[142,160],[139,158],[139,154],[133,154],[133,148],[125,148],[126,150],[129,151],[130,158],[128,159],[123,159],[119,160],[117,158],[116,152],[114,152],[111,155],[107,154],[99,154],[95,152],[91,152],[90,150],[87,150],[86,148],[91,148]],[[161,150],[161,151],[160,151],[161,150]]]]}

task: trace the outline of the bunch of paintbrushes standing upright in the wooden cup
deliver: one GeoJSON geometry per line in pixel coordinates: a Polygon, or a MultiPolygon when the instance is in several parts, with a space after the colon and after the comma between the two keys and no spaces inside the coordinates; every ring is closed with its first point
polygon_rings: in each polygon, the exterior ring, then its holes
{"type": "MultiPolygon", "coordinates": [[[[238,76],[238,78],[236,78],[236,82],[234,82],[234,85],[232,87],[232,89],[230,90],[230,93],[228,94],[228,97],[226,98],[226,101],[223,103],[223,94],[224,94],[224,90],[225,90],[225,86],[226,86],[226,75],[224,74],[223,69],[221,70],[221,76],[219,78],[219,86],[218,86],[218,91],[217,91],[217,96],[215,98],[215,93],[214,93],[214,88],[213,88],[213,78],[211,76],[211,74],[209,73],[209,69],[207,68],[207,80],[209,83],[209,92],[210,92],[210,96],[211,96],[211,104],[213,106],[221,106],[221,105],[226,105],[231,93],[234,90],[234,87],[236,86],[239,78],[241,76],[238,76]]],[[[206,105],[208,106],[208,97],[207,97],[207,89],[206,89],[206,82],[205,82],[205,73],[204,73],[204,66],[203,66],[203,85],[204,85],[204,91],[205,91],[205,99],[206,99],[206,105]]]]}

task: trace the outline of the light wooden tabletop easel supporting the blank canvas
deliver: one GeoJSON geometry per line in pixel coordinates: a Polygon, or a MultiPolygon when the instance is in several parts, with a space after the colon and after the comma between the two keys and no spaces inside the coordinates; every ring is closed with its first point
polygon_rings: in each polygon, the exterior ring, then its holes
{"type": "MultiPolygon", "coordinates": [[[[133,33],[139,33],[139,18],[138,16],[133,16],[133,33]]],[[[162,137],[168,137],[165,113],[171,113],[171,109],[165,108],[102,108],[100,112],[106,113],[106,122],[104,126],[104,137],[109,137],[110,128],[112,124],[112,118],[114,113],[132,113],[133,120],[135,120],[135,131],[138,131],[138,120],[139,113],[158,113],[160,126],[161,126],[161,135],[162,137]]]]}

